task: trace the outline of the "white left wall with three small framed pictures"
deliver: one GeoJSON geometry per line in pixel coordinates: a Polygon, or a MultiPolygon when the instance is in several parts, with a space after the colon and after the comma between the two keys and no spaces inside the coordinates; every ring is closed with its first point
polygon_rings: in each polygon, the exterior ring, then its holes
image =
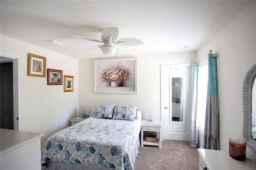
{"type": "Polygon", "coordinates": [[[77,115],[78,59],[3,35],[0,47],[1,52],[21,58],[21,130],[43,133],[43,147],[50,135],[70,126],[70,119],[77,115]],[[28,53],[46,57],[46,77],[28,76],[28,53]],[[63,75],[74,76],[74,92],[64,93],[63,85],[47,85],[47,68],[62,70],[63,75]],[[34,105],[29,105],[29,99],[34,100],[34,105]]]}

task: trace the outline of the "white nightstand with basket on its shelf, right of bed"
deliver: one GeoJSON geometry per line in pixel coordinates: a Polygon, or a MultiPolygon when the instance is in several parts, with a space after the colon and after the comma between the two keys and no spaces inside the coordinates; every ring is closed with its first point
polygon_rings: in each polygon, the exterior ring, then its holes
{"type": "Polygon", "coordinates": [[[149,122],[147,120],[141,121],[141,146],[143,147],[145,145],[152,145],[152,146],[158,146],[158,148],[162,148],[162,124],[161,121],[152,121],[149,122]],[[144,132],[158,132],[159,138],[156,138],[156,142],[147,142],[146,141],[146,135],[144,135],[144,132]]]}

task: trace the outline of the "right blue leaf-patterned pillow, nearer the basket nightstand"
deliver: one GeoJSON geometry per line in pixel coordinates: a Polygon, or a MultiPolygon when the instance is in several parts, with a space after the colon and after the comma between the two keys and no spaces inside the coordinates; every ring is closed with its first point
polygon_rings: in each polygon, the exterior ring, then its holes
{"type": "Polygon", "coordinates": [[[114,110],[113,119],[134,121],[136,119],[138,106],[117,105],[114,110]]]}

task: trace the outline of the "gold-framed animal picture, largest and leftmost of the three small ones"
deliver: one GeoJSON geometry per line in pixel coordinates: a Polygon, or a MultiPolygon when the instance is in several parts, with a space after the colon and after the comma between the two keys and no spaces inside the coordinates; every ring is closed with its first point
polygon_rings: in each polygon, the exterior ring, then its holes
{"type": "Polygon", "coordinates": [[[28,54],[28,76],[46,77],[46,57],[28,54]]]}

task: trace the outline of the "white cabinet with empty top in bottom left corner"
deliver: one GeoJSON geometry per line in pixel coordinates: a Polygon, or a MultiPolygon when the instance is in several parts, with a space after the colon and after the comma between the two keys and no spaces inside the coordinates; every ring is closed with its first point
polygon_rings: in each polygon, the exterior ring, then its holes
{"type": "Polygon", "coordinates": [[[2,129],[1,170],[41,170],[41,142],[44,134],[2,129]]]}

